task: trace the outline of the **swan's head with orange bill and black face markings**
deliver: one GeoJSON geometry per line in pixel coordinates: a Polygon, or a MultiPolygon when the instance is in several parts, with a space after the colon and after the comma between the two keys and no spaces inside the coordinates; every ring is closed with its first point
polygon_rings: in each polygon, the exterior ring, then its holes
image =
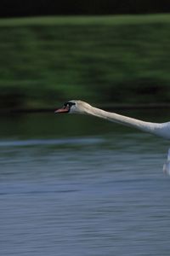
{"type": "Polygon", "coordinates": [[[72,100],[65,102],[63,107],[55,110],[54,113],[88,113],[90,107],[87,102],[72,100]]]}

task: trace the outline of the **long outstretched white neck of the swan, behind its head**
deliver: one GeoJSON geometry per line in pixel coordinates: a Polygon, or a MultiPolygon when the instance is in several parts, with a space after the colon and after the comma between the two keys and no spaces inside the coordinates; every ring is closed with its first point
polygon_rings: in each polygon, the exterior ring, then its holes
{"type": "Polygon", "coordinates": [[[170,139],[170,122],[162,123],[162,124],[144,122],[142,120],[129,118],[121,114],[110,113],[99,108],[94,108],[92,106],[86,109],[85,113],[97,116],[102,119],[110,120],[111,122],[116,122],[122,125],[131,126],[139,129],[140,131],[150,132],[157,136],[170,139]]]}

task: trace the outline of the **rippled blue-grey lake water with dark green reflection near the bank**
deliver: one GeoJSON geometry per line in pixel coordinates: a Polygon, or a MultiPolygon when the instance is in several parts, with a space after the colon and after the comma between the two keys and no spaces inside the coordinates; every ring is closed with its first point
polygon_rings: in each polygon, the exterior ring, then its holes
{"type": "Polygon", "coordinates": [[[0,254],[169,255],[167,148],[92,117],[2,116],[0,254]]]}

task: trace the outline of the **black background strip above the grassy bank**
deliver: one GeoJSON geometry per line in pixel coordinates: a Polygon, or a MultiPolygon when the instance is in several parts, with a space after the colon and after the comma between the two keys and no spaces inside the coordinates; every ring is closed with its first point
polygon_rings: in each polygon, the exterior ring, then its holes
{"type": "Polygon", "coordinates": [[[169,0],[1,0],[1,17],[167,13],[169,0]]]}

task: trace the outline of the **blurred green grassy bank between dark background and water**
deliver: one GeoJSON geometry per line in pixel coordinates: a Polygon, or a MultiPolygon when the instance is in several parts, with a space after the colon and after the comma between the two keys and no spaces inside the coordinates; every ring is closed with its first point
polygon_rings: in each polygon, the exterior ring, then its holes
{"type": "Polygon", "coordinates": [[[170,100],[170,15],[0,20],[0,107],[170,100]]]}

